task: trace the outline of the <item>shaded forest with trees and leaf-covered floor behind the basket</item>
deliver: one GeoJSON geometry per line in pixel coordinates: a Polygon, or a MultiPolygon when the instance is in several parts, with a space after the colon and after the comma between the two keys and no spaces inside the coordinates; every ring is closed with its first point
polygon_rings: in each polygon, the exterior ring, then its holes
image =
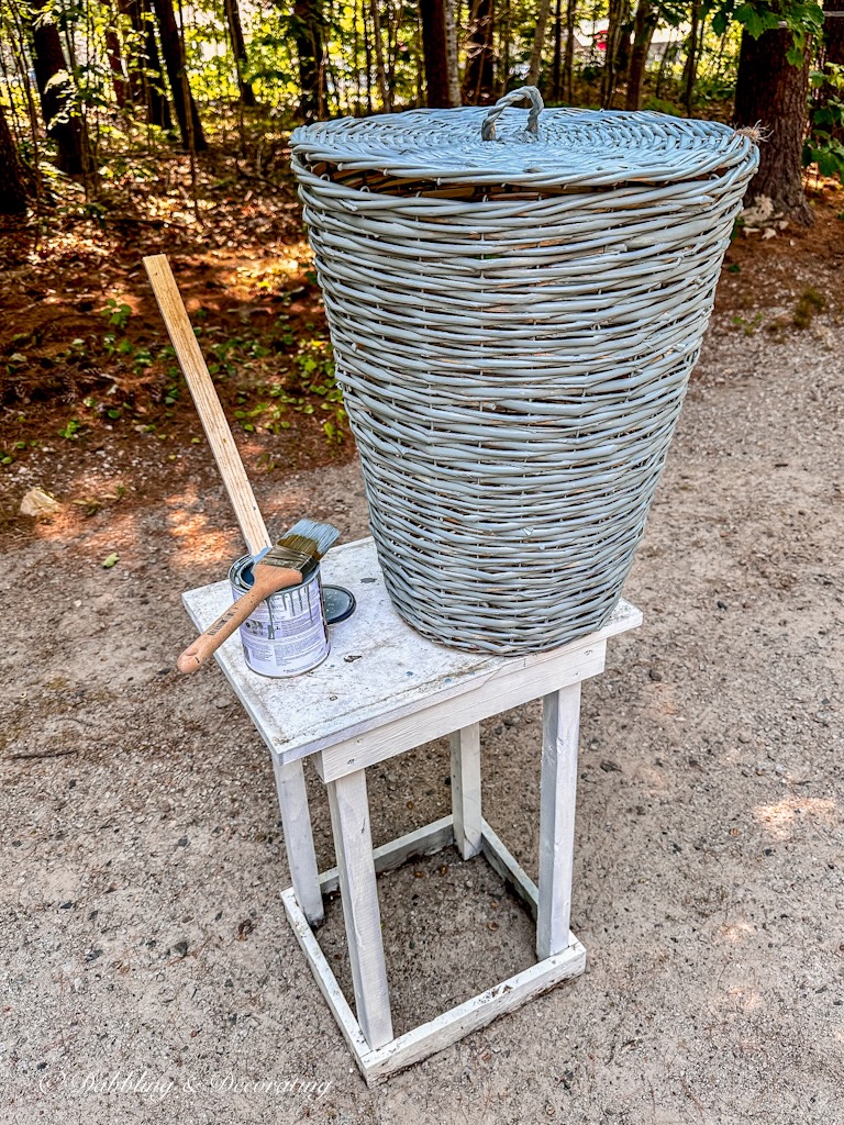
{"type": "Polygon", "coordinates": [[[255,464],[286,431],[286,464],[351,453],[288,171],[302,122],[531,83],[757,127],[770,230],[841,214],[844,0],[0,0],[0,32],[7,469],[106,430],[199,440],[140,272],[156,250],[255,464]]]}

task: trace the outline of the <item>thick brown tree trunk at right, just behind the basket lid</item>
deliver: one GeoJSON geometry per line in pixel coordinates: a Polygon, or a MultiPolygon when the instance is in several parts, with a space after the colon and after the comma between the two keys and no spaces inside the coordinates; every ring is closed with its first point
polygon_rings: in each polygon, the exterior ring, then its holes
{"type": "Polygon", "coordinates": [[[814,216],[802,189],[802,147],[809,90],[809,50],[801,66],[785,57],[791,33],[763,32],[754,39],[742,33],[736,81],[736,124],[761,123],[767,140],[760,145],[758,172],[747,197],[769,196],[776,210],[805,226],[814,216]]]}

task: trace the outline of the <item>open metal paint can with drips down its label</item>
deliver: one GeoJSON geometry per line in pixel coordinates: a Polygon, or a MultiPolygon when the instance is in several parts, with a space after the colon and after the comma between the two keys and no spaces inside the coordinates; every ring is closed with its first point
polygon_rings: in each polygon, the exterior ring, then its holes
{"type": "MultiPolygon", "coordinates": [[[[237,601],[252,586],[252,556],[244,555],[228,572],[237,601]]],[[[264,598],[240,629],[248,667],[262,676],[298,676],[329,655],[329,627],[317,567],[305,582],[264,598]]]]}

